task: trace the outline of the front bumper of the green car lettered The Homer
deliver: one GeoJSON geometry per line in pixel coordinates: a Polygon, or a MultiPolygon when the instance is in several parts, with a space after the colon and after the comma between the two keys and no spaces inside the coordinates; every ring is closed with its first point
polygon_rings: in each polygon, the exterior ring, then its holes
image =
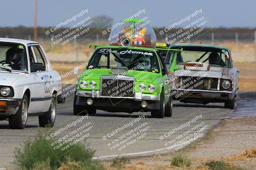
{"type": "Polygon", "coordinates": [[[133,111],[151,111],[159,110],[160,101],[159,96],[151,94],[135,93],[134,97],[108,97],[100,96],[99,90],[77,90],[76,105],[89,106],[86,101],[93,100],[92,108],[105,111],[120,111],[120,112],[133,112],[133,111]],[[146,101],[147,107],[142,108],[141,102],[146,101]]]}

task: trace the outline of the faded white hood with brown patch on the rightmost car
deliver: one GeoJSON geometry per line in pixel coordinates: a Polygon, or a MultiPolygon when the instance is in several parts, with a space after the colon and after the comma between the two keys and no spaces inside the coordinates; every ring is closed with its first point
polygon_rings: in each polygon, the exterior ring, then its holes
{"type": "Polygon", "coordinates": [[[175,76],[204,76],[209,78],[227,78],[229,69],[226,67],[209,66],[202,62],[188,62],[181,65],[181,69],[175,71],[175,76]],[[202,71],[202,75],[198,74],[202,71]],[[204,74],[203,74],[204,72],[204,74]]]}

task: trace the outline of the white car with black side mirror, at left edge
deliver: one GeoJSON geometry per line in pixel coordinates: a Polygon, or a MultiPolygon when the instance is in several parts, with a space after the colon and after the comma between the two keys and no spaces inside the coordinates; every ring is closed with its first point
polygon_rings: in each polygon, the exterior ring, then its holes
{"type": "Polygon", "coordinates": [[[0,120],[23,129],[28,116],[40,127],[52,127],[61,98],[61,77],[35,41],[0,38],[0,120]]]}

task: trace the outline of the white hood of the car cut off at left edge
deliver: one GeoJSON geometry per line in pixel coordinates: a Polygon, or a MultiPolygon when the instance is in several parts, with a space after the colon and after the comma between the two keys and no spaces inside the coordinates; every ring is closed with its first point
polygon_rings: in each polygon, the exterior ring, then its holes
{"type": "Polygon", "coordinates": [[[12,86],[13,82],[25,76],[23,73],[0,72],[0,85],[12,86]]]}

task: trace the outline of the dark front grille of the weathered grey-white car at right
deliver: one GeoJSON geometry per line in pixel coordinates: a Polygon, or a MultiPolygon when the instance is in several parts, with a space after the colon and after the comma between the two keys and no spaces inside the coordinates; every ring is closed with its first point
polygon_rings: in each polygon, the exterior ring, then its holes
{"type": "Polygon", "coordinates": [[[175,89],[217,90],[218,78],[182,76],[175,79],[175,89]]]}

